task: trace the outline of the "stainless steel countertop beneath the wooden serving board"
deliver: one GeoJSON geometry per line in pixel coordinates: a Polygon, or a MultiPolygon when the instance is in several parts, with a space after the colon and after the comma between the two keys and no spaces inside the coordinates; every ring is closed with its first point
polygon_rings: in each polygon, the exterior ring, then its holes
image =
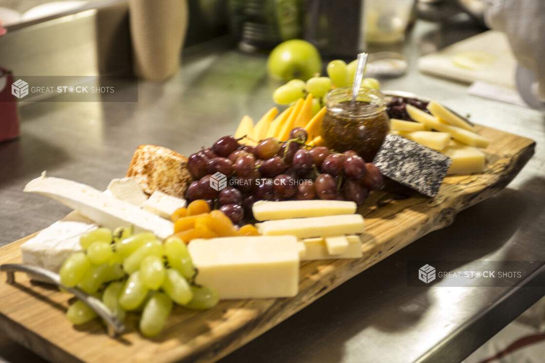
{"type": "MultiPolygon", "coordinates": [[[[471,120],[537,141],[535,156],[498,195],[326,294],[227,362],[458,362],[545,294],[544,288],[408,287],[407,261],[545,261],[545,120],[535,110],[467,95],[466,86],[421,75],[421,53],[475,33],[463,24],[417,22],[405,53],[407,75],[384,89],[445,103],[471,120]],[[453,37],[450,39],[450,37],[453,37]]],[[[38,231],[68,209],[21,192],[50,175],[105,188],[123,176],[140,144],[189,155],[232,133],[245,114],[271,107],[263,56],[220,40],[185,51],[181,71],[164,84],[140,82],[138,103],[34,103],[21,108],[22,135],[0,145],[0,245],[38,231]],[[205,132],[203,132],[205,131],[205,132]]],[[[478,267],[478,266],[477,266],[478,267]]],[[[539,270],[535,278],[542,278],[539,270]]],[[[0,362],[39,360],[0,335],[0,362]]]]}

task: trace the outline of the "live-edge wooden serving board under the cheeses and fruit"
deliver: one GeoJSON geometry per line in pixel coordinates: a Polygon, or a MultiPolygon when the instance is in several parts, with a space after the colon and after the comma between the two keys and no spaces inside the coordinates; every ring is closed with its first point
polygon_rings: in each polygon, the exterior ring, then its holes
{"type": "MultiPolygon", "coordinates": [[[[478,125],[476,131],[492,140],[485,173],[447,177],[433,199],[407,190],[371,193],[359,209],[366,220],[364,257],[302,262],[299,294],[293,298],[227,300],[207,311],[178,306],[155,339],[143,339],[133,317],[129,332],[114,340],[96,319],[72,327],[65,318],[69,294],[31,284],[24,274],[8,285],[0,273],[0,329],[51,361],[220,359],[417,238],[450,225],[456,213],[507,186],[534,154],[533,140],[478,125]]],[[[19,247],[30,237],[0,248],[0,264],[21,262],[19,247]]]]}

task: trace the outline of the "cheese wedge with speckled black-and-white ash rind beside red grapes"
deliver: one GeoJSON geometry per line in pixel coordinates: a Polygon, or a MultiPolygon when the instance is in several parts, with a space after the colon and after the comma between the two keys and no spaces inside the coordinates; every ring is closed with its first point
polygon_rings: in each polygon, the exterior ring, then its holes
{"type": "Polygon", "coordinates": [[[384,176],[433,198],[452,159],[401,136],[386,135],[373,164],[384,176]]]}

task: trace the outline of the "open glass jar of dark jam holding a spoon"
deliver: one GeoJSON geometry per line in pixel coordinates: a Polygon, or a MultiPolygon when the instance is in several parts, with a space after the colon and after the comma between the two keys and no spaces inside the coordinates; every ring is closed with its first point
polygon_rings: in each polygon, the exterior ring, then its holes
{"type": "Polygon", "coordinates": [[[354,104],[351,100],[352,87],[337,88],[326,96],[322,138],[330,149],[354,150],[371,162],[390,131],[386,101],[371,88],[362,88],[354,104]]]}

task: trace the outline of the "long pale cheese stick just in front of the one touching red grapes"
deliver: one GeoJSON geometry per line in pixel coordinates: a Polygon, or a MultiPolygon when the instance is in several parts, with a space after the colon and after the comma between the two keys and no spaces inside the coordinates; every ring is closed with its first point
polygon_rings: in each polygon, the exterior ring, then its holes
{"type": "Polygon", "coordinates": [[[256,227],[263,236],[292,235],[299,239],[350,235],[365,229],[364,217],[360,214],[268,220],[256,227]]]}

